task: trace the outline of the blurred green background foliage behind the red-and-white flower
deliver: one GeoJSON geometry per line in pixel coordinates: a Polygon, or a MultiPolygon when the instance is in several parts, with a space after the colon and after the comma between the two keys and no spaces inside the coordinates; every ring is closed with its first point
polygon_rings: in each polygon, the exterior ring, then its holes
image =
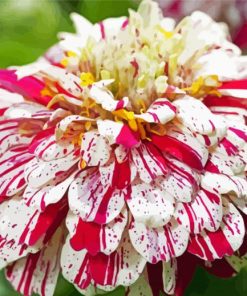
{"type": "MultiPolygon", "coordinates": [[[[130,7],[135,8],[136,3],[131,0],[0,0],[0,67],[32,62],[56,42],[59,31],[73,31],[69,19],[72,11],[97,22],[109,16],[127,15],[130,7]]],[[[14,295],[19,294],[12,290],[2,272],[0,296],[14,295]]],[[[60,277],[55,295],[81,294],[60,277]]],[[[108,295],[124,293],[118,289],[108,295]]],[[[247,295],[247,270],[236,278],[223,280],[198,269],[186,292],[186,296],[197,295],[247,295]]]]}

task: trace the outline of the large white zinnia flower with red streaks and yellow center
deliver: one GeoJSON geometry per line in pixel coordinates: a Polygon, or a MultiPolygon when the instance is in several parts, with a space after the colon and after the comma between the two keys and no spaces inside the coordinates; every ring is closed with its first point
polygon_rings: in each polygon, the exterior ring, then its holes
{"type": "Polygon", "coordinates": [[[24,295],[181,295],[246,258],[247,61],[225,27],[144,0],[0,71],[0,258],[24,295]],[[242,246],[242,247],[241,247],[242,246]],[[91,294],[90,294],[91,293],[91,294]]]}

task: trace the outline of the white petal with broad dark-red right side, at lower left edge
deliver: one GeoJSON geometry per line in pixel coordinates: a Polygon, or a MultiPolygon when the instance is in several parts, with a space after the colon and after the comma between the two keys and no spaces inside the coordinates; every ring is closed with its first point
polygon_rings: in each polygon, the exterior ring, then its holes
{"type": "MultiPolygon", "coordinates": [[[[6,241],[12,240],[13,244],[24,245],[22,251],[25,251],[25,246],[34,246],[38,250],[56,230],[56,223],[64,219],[67,205],[62,201],[50,206],[44,213],[39,213],[26,206],[17,196],[1,204],[0,213],[0,235],[6,241]]],[[[11,245],[9,248],[11,249],[11,245]]]]}

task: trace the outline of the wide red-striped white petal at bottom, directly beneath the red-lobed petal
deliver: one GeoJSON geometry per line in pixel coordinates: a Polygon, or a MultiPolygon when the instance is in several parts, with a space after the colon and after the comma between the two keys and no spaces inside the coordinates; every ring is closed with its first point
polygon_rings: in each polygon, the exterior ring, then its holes
{"type": "Polygon", "coordinates": [[[146,260],[134,250],[126,233],[119,248],[109,256],[102,253],[90,256],[85,249],[74,251],[68,238],[61,260],[64,277],[79,289],[86,289],[91,281],[104,290],[129,286],[138,279],[145,264],[146,260]]]}

